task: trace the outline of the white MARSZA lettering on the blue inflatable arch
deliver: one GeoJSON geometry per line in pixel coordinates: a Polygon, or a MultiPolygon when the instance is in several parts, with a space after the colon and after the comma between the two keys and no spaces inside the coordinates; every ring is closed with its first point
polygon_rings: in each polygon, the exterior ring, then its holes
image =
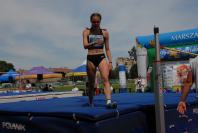
{"type": "Polygon", "coordinates": [[[194,39],[194,38],[198,38],[198,32],[173,35],[171,37],[171,40],[177,41],[177,40],[194,39]]]}

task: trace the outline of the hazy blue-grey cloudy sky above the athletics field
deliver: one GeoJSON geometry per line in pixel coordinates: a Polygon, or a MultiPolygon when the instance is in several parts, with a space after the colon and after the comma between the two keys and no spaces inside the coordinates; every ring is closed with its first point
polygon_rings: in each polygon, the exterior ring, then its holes
{"type": "Polygon", "coordinates": [[[16,69],[75,68],[86,59],[82,31],[102,14],[113,61],[128,56],[135,37],[198,27],[197,0],[0,0],[0,60],[16,69]]]}

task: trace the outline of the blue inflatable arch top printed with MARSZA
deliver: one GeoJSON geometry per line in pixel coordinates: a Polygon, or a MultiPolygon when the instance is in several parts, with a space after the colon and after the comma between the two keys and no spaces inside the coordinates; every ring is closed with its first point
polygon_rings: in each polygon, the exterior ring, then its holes
{"type": "MultiPolygon", "coordinates": [[[[142,47],[154,47],[154,35],[138,36],[136,41],[142,47]]],[[[198,43],[198,28],[159,34],[161,46],[179,46],[198,43]]]]}

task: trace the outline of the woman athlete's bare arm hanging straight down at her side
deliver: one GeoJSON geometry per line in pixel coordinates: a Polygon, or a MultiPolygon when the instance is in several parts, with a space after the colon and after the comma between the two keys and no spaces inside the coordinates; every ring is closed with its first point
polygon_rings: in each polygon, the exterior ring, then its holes
{"type": "Polygon", "coordinates": [[[109,32],[107,30],[104,31],[104,37],[105,37],[105,51],[106,55],[109,61],[110,69],[112,69],[112,56],[111,56],[111,50],[109,45],[109,32]]]}

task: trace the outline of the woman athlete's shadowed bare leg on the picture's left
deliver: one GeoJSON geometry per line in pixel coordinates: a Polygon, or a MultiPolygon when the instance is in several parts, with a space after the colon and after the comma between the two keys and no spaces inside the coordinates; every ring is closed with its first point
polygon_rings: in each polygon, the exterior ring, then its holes
{"type": "Polygon", "coordinates": [[[94,96],[94,84],[95,84],[95,75],[96,75],[96,67],[95,65],[87,60],[87,75],[88,75],[88,96],[89,96],[89,104],[93,104],[93,96],[94,96]]]}

